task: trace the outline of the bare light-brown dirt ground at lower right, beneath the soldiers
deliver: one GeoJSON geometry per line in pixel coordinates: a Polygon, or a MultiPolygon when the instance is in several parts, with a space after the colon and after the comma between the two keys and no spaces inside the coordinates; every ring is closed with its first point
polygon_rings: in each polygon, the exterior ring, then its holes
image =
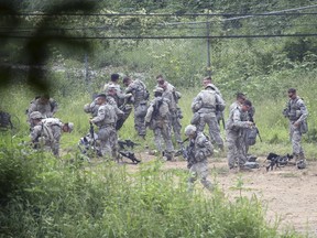
{"type": "MultiPolygon", "coordinates": [[[[143,162],[154,159],[147,153],[139,153],[138,156],[143,162]]],[[[186,170],[186,161],[177,160],[165,162],[164,167],[186,170]]],[[[317,163],[309,162],[305,170],[287,165],[266,172],[265,159],[258,158],[256,161],[260,169],[239,173],[229,172],[225,158],[209,159],[210,174],[218,174],[216,182],[229,198],[239,196],[240,192],[232,187],[237,187],[239,178],[242,180],[242,196],[256,195],[267,207],[269,221],[274,223],[280,217],[282,230],[294,227],[299,232],[308,232],[309,237],[317,237],[317,163]]],[[[214,180],[211,175],[209,178],[214,180]]]]}

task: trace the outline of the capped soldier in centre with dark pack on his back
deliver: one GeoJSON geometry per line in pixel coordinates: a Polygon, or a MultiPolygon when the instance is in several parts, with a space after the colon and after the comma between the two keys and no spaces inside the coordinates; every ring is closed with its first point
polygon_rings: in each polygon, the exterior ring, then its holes
{"type": "Polygon", "coordinates": [[[154,142],[157,150],[163,153],[162,137],[165,142],[164,155],[172,161],[174,156],[174,147],[170,128],[170,107],[171,101],[162,97],[163,88],[154,89],[155,98],[151,101],[145,115],[145,126],[153,130],[154,142]]]}

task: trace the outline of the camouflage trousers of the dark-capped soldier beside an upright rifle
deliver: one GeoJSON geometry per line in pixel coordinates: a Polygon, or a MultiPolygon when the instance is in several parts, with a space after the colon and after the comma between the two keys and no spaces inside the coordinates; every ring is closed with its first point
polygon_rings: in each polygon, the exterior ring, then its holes
{"type": "Polygon", "coordinates": [[[118,158],[118,136],[114,126],[102,127],[98,131],[100,153],[106,158],[118,158]]]}

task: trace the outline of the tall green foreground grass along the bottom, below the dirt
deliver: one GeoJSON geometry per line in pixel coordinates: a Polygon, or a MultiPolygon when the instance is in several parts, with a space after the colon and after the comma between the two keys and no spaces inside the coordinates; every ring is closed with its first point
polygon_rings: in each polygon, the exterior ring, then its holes
{"type": "Polygon", "coordinates": [[[256,197],[188,194],[187,172],[162,170],[160,161],[130,172],[14,144],[3,153],[3,142],[1,188],[10,190],[1,190],[1,237],[297,237],[269,224],[256,197]]]}

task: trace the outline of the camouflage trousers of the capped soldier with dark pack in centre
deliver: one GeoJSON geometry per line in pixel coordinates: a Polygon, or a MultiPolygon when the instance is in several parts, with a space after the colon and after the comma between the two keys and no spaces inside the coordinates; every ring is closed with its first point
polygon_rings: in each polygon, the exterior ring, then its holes
{"type": "Polygon", "coordinates": [[[155,127],[154,130],[154,143],[156,149],[160,152],[163,152],[163,141],[164,140],[165,147],[166,147],[166,152],[172,153],[174,151],[174,147],[172,143],[172,134],[171,134],[171,129],[168,123],[164,123],[161,127],[155,127]]]}

